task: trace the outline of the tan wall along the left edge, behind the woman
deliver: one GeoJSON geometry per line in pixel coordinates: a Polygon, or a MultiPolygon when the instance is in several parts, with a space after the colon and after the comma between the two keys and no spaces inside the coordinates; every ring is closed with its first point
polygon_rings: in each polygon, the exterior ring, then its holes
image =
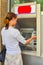
{"type": "MultiPolygon", "coordinates": [[[[2,49],[2,45],[1,45],[1,29],[4,26],[3,24],[3,18],[5,17],[5,15],[7,14],[7,9],[8,9],[8,0],[0,0],[0,51],[2,49]]],[[[3,63],[0,62],[0,65],[2,65],[3,63]]]]}

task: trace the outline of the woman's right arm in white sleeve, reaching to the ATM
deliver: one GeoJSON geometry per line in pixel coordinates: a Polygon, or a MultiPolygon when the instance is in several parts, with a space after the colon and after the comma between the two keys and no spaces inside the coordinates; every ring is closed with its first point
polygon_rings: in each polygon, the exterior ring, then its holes
{"type": "Polygon", "coordinates": [[[25,38],[21,35],[21,33],[19,32],[19,30],[15,30],[13,33],[13,36],[16,37],[16,39],[21,42],[22,44],[28,44],[30,43],[33,39],[36,39],[36,36],[32,36],[31,38],[25,40],[25,38]],[[16,33],[16,35],[14,35],[14,33],[16,33]]]}

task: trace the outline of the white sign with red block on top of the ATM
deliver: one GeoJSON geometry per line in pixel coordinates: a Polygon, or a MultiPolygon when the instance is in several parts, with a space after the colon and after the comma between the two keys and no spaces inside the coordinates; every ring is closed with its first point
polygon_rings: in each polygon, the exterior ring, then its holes
{"type": "Polygon", "coordinates": [[[22,5],[14,8],[15,14],[35,14],[36,5],[22,5]]]}

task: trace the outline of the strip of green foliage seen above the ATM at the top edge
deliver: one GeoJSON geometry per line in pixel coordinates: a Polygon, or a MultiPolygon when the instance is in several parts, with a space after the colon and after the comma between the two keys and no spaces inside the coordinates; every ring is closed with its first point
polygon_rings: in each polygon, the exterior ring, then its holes
{"type": "Polygon", "coordinates": [[[29,3],[35,1],[41,4],[41,11],[43,11],[43,0],[11,0],[11,8],[14,6],[14,4],[29,3]]]}

